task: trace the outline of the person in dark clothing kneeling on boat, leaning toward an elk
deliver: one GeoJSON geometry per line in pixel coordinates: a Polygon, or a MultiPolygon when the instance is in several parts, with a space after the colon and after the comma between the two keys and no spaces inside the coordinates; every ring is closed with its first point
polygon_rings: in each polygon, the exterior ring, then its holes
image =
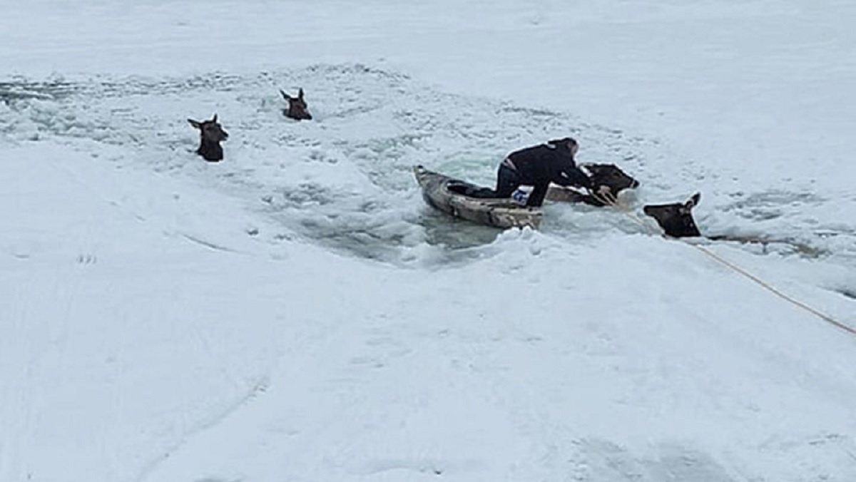
{"type": "Polygon", "coordinates": [[[491,194],[497,198],[510,198],[518,187],[532,186],[534,188],[526,199],[526,205],[538,207],[544,204],[550,182],[561,186],[586,187],[591,191],[591,179],[574,161],[579,149],[576,140],[566,137],[508,154],[499,164],[496,189],[491,194]]]}

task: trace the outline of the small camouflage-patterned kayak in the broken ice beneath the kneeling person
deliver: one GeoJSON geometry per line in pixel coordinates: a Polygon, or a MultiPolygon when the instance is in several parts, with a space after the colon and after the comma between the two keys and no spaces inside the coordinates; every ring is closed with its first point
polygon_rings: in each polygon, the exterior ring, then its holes
{"type": "Polygon", "coordinates": [[[452,216],[502,229],[525,226],[537,229],[541,223],[543,214],[538,208],[520,205],[514,199],[467,195],[487,187],[426,170],[421,165],[413,166],[413,174],[422,187],[425,202],[452,216]]]}

